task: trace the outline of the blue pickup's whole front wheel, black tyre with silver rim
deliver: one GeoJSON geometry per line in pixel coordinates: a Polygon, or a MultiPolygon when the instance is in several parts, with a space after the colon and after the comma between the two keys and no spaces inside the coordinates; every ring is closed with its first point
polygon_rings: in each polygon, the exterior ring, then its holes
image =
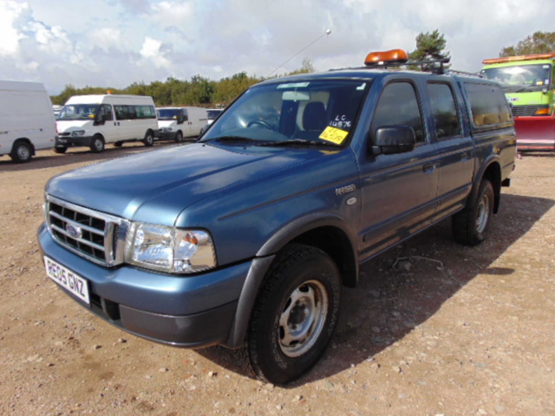
{"type": "Polygon", "coordinates": [[[256,376],[285,384],[314,366],[335,329],[340,299],[340,273],[330,256],[312,246],[285,246],[260,288],[243,347],[256,376]]]}

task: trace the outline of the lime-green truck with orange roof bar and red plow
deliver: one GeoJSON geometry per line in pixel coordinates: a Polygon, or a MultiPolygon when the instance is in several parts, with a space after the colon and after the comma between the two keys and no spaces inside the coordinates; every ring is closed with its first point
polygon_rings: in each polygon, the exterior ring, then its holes
{"type": "Polygon", "coordinates": [[[555,150],[555,53],[485,59],[481,74],[512,104],[518,150],[555,150]]]}

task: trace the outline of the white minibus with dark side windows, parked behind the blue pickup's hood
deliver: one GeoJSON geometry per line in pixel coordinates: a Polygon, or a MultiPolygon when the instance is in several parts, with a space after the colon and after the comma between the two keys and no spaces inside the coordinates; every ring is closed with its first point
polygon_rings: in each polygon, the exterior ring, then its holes
{"type": "Polygon", "coordinates": [[[142,140],[154,144],[158,121],[152,97],[142,95],[74,95],[65,103],[56,121],[56,153],[69,146],[88,146],[93,153],[106,143],[142,140]]]}

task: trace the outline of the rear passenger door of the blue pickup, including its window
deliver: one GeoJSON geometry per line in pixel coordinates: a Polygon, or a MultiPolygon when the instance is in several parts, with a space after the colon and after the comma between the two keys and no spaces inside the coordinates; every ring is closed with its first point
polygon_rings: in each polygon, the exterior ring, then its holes
{"type": "Polygon", "coordinates": [[[472,188],[474,142],[463,123],[465,108],[460,90],[451,77],[427,80],[431,113],[430,135],[439,156],[438,208],[434,221],[460,209],[472,188]]]}

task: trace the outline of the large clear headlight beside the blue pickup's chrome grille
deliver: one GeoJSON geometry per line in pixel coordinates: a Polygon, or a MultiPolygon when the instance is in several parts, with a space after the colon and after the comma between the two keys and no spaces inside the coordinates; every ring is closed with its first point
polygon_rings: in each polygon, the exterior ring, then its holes
{"type": "Polygon", "coordinates": [[[206,231],[133,222],[125,262],[170,273],[192,273],[216,267],[216,254],[206,231]]]}

